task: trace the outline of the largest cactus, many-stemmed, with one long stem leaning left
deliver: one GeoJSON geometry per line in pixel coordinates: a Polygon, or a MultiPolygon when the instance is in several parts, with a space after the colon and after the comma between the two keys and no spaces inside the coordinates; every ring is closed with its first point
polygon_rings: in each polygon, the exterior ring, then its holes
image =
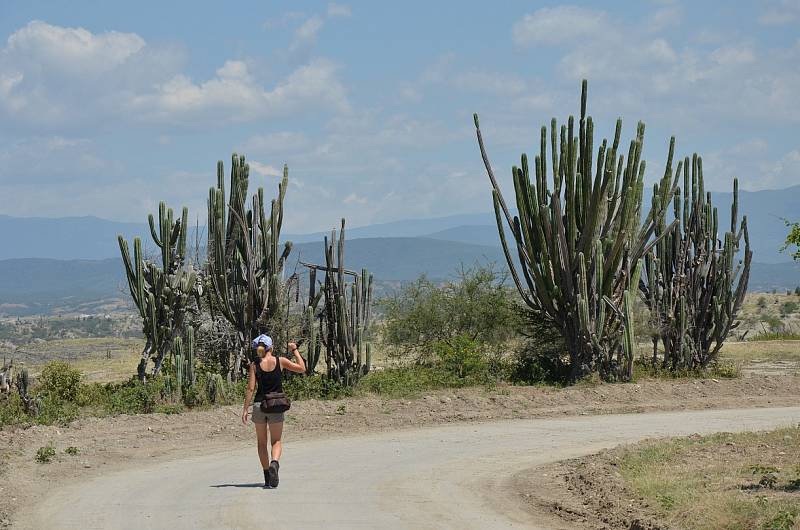
{"type": "Polygon", "coordinates": [[[636,288],[632,277],[654,243],[651,236],[677,188],[672,176],[674,139],[664,176],[655,189],[655,207],[642,221],[644,124],[637,127],[627,160],[618,153],[621,119],[613,141],[609,144],[604,139],[595,158],[594,123],[586,115],[586,85],[584,80],[578,130],[572,116],[560,130],[553,118],[550,152],[547,127],[543,126],[533,176],[525,154],[521,167],[512,168],[517,216],[512,216],[495,179],[477,114],[474,121],[493,188],[500,241],[523,300],[561,331],[573,380],[591,371],[606,379],[627,380],[632,375],[632,351],[621,343],[626,327],[624,293],[631,285],[636,288]],[[516,259],[504,224],[516,244],[516,259]]]}

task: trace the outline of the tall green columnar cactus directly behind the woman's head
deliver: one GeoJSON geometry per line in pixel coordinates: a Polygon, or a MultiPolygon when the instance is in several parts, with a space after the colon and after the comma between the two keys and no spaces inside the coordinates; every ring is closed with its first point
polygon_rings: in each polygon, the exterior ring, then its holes
{"type": "Polygon", "coordinates": [[[250,168],[244,156],[231,160],[230,193],[225,197],[225,169],[217,163],[217,185],[208,195],[208,277],[212,311],[219,311],[238,335],[238,351],[230,363],[234,377],[246,366],[250,341],[279,311],[280,278],[291,242],[279,249],[283,199],[289,170],[283,168],[278,197],[264,203],[264,190],[247,207],[250,168]],[[269,215],[265,209],[269,207],[269,215]]]}

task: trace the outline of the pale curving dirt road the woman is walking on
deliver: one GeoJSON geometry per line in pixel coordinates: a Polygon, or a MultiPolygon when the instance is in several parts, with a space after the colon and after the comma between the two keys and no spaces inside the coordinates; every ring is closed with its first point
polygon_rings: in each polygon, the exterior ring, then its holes
{"type": "Polygon", "coordinates": [[[553,528],[520,470],[645,437],[767,429],[800,407],[499,421],[287,445],[261,487],[254,448],[142,466],[51,491],[19,528],[553,528]]]}

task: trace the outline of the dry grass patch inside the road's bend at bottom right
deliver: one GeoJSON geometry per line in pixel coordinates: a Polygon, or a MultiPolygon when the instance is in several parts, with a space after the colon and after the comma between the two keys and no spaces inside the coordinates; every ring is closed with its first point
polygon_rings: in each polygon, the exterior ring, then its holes
{"type": "Polygon", "coordinates": [[[800,528],[798,441],[800,427],[648,442],[619,471],[670,527],[800,528]]]}

